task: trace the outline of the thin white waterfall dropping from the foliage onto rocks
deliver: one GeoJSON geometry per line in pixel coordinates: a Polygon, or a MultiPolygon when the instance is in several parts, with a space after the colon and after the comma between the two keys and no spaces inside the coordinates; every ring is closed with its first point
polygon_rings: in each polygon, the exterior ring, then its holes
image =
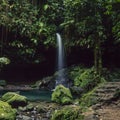
{"type": "Polygon", "coordinates": [[[62,84],[64,86],[66,86],[65,84],[65,75],[64,75],[64,67],[65,67],[65,63],[64,63],[64,47],[63,47],[63,44],[62,44],[62,39],[61,39],[61,36],[59,33],[56,33],[57,35],[57,45],[58,45],[58,65],[57,65],[57,70],[58,70],[58,76],[56,78],[56,86],[59,85],[59,84],[62,84]]]}

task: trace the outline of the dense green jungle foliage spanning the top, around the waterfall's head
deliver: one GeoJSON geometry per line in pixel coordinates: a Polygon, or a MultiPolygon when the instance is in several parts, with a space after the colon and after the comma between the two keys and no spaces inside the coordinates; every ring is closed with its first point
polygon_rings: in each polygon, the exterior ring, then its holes
{"type": "Polygon", "coordinates": [[[44,55],[38,49],[55,47],[59,31],[67,50],[81,46],[94,51],[100,75],[106,46],[119,47],[119,8],[120,0],[0,0],[1,57],[40,63],[44,55]]]}

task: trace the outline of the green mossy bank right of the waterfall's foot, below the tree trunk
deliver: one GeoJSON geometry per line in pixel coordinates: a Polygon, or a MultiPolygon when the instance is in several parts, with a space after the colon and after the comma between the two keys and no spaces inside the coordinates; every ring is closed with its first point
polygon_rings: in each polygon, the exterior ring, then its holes
{"type": "Polygon", "coordinates": [[[94,67],[75,66],[70,70],[69,77],[74,81],[74,86],[82,88],[84,92],[92,90],[99,83],[105,81],[105,77],[100,77],[94,67]]]}

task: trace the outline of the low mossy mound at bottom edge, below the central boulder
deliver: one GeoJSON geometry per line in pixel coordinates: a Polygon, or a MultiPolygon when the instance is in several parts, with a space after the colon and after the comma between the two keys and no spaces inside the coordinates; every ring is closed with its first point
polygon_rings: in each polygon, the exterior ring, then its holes
{"type": "Polygon", "coordinates": [[[60,110],[55,110],[51,120],[83,120],[84,116],[81,113],[79,106],[66,106],[60,110]]]}

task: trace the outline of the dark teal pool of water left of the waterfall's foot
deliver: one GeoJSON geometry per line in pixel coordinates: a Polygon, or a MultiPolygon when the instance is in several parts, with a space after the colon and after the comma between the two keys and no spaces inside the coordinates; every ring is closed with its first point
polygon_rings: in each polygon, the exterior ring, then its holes
{"type": "MultiPolygon", "coordinates": [[[[0,91],[0,97],[6,92],[10,92],[10,91],[5,91],[5,90],[0,91]]],[[[26,96],[30,101],[51,101],[51,94],[52,94],[51,91],[25,90],[18,92],[20,95],[26,96]]]]}

